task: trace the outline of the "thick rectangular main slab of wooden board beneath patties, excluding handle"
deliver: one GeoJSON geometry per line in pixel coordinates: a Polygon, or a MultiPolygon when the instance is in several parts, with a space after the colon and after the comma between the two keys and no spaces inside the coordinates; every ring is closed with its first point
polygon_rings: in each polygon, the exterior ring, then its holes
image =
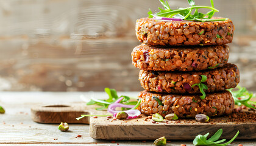
{"type": "Polygon", "coordinates": [[[180,123],[166,121],[152,123],[145,121],[146,117],[131,120],[107,120],[105,118],[90,120],[90,136],[94,139],[147,139],[154,140],[165,136],[166,139],[194,139],[197,134],[206,134],[222,128],[222,138],[231,139],[239,130],[236,139],[256,139],[255,122],[226,122],[223,117],[216,117],[215,122],[196,122],[195,120],[180,120],[180,123]]]}

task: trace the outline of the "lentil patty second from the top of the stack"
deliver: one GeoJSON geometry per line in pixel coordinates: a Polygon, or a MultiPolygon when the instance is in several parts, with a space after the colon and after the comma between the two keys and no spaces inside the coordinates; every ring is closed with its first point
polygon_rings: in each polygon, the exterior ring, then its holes
{"type": "Polygon", "coordinates": [[[201,71],[222,67],[229,59],[229,46],[148,46],[140,44],[132,51],[132,64],[154,71],[201,71]]]}

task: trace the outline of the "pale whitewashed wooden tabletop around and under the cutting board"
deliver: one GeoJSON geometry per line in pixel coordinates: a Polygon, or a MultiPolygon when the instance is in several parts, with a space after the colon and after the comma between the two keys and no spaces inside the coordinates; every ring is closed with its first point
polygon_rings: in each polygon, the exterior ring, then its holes
{"type": "MultiPolygon", "coordinates": [[[[136,97],[138,92],[118,94],[136,97]]],[[[5,114],[0,114],[0,145],[153,145],[153,141],[99,141],[89,136],[89,125],[70,124],[69,131],[62,132],[58,124],[41,124],[31,120],[31,106],[41,103],[80,103],[81,95],[88,98],[107,97],[104,92],[0,92],[0,105],[5,108],[5,114]],[[82,137],[76,138],[77,134],[82,137]]],[[[193,145],[192,141],[167,143],[180,144],[193,145]]],[[[256,145],[256,140],[237,140],[231,145],[238,144],[256,145]]]]}

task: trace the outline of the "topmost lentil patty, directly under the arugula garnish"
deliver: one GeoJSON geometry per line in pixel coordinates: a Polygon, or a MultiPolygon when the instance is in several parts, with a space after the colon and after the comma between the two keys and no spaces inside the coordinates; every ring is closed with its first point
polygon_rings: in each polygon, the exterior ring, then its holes
{"type": "Polygon", "coordinates": [[[202,23],[141,18],[135,30],[138,40],[151,46],[221,45],[232,42],[235,26],[230,19],[202,23]]]}

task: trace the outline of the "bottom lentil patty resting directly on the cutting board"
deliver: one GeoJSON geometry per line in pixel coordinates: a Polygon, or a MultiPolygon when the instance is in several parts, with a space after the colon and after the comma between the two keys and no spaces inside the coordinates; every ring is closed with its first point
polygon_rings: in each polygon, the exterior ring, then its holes
{"type": "Polygon", "coordinates": [[[138,98],[141,98],[138,109],[146,115],[158,113],[165,116],[174,113],[178,117],[195,117],[196,114],[206,114],[207,116],[230,114],[235,106],[229,91],[207,94],[203,100],[199,96],[195,94],[183,96],[156,94],[145,90],[138,94],[138,98]],[[159,105],[155,98],[158,98],[163,105],[159,105]]]}

